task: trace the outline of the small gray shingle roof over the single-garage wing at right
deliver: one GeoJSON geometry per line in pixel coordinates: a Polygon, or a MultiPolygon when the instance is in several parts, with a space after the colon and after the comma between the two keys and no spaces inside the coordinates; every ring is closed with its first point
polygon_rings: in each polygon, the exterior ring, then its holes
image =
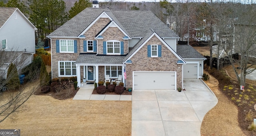
{"type": "Polygon", "coordinates": [[[206,59],[190,45],[177,45],[177,54],[183,59],[206,59]]]}

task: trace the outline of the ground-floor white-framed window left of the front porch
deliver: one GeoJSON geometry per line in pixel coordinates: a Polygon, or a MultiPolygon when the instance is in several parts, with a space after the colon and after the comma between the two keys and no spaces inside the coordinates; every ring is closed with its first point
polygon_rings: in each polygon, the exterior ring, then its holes
{"type": "Polygon", "coordinates": [[[59,77],[76,75],[75,61],[59,61],[59,77]]]}

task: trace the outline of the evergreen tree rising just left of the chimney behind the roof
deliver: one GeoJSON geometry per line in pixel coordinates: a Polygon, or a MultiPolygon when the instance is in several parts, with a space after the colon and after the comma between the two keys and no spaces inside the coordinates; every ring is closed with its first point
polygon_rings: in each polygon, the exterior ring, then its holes
{"type": "Polygon", "coordinates": [[[73,18],[76,16],[78,13],[86,9],[87,7],[91,7],[92,3],[89,2],[89,0],[79,0],[78,2],[76,1],[74,6],[71,7],[69,10],[69,19],[73,18]]]}

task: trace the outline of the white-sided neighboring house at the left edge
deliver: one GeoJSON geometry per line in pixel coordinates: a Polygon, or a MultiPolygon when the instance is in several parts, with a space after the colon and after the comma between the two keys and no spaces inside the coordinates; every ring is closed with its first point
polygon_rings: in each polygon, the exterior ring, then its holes
{"type": "Polygon", "coordinates": [[[35,53],[36,27],[20,12],[18,8],[0,7],[0,52],[1,77],[6,79],[6,73],[11,63],[20,69],[30,64],[35,53]],[[4,55],[2,54],[4,53],[4,55]],[[19,62],[22,61],[22,64],[19,62]]]}

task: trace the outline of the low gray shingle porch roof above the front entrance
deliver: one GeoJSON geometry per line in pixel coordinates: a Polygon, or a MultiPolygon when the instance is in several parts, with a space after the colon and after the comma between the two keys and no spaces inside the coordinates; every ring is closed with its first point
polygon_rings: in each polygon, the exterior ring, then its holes
{"type": "Polygon", "coordinates": [[[125,56],[110,56],[96,54],[79,54],[76,63],[84,64],[123,64],[125,56]]]}

